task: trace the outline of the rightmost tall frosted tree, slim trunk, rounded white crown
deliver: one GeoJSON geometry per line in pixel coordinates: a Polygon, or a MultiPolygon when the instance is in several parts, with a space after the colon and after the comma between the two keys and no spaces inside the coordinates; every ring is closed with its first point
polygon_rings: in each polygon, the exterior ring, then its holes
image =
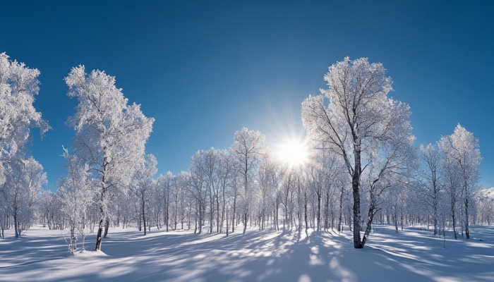
{"type": "Polygon", "coordinates": [[[462,125],[454,128],[452,135],[441,137],[439,147],[445,157],[447,173],[454,173],[460,189],[460,197],[464,204],[464,228],[466,239],[470,238],[469,230],[469,202],[476,190],[480,173],[478,166],[481,163],[481,151],[478,139],[474,133],[466,130],[462,125]]]}

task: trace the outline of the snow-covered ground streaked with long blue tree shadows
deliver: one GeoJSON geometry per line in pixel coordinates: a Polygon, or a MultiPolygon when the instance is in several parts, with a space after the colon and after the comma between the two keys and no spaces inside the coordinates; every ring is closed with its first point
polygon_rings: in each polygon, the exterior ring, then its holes
{"type": "MultiPolygon", "coordinates": [[[[241,229],[239,229],[241,230],[241,229]]],[[[0,240],[0,281],[494,281],[494,226],[471,240],[376,226],[363,250],[351,234],[248,230],[245,235],[112,229],[102,252],[68,256],[40,226],[0,240]],[[445,247],[444,247],[445,245],[445,247]]],[[[88,235],[88,250],[95,235],[88,235]]]]}

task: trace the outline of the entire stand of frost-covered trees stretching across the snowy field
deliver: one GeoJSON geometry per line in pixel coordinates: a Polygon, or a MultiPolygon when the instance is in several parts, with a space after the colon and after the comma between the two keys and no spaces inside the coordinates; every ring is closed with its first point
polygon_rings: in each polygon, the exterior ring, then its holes
{"type": "Polygon", "coordinates": [[[52,192],[29,151],[32,128],[51,129],[33,106],[40,71],[2,53],[0,238],[42,224],[67,234],[71,254],[104,250],[115,228],[143,236],[344,231],[356,249],[373,240],[375,225],[469,240],[471,226],[494,221],[493,191],[478,184],[478,139],[458,124],[434,144],[416,145],[411,109],[389,97],[385,73],[366,58],[330,66],[327,89],[301,103],[306,140],[282,154],[263,133],[241,128],[231,147],[200,149],[187,171],[157,176],[145,149],[154,118],[129,104],[116,78],[76,66],[64,78],[78,101],[66,121],[73,144],[61,150],[66,175],[52,192]],[[85,243],[90,234],[94,246],[85,243]]]}

